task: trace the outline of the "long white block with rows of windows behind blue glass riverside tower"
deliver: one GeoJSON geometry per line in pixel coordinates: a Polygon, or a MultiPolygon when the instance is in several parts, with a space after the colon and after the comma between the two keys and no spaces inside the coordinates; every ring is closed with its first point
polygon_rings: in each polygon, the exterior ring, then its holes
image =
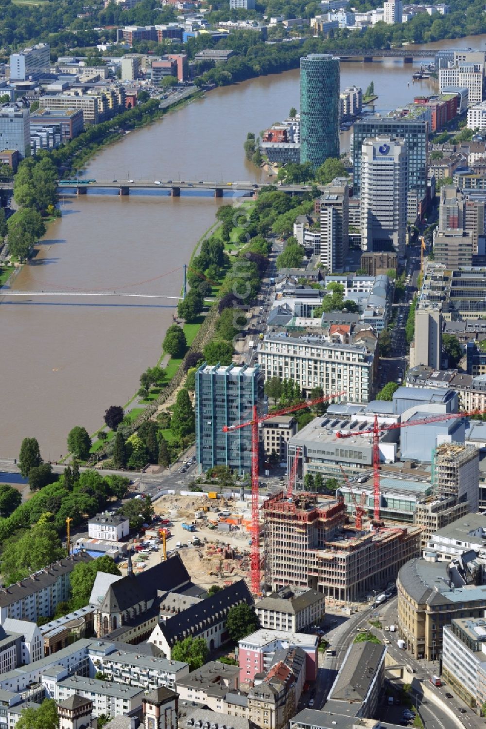
{"type": "Polygon", "coordinates": [[[303,394],[321,387],[324,395],[345,391],[349,402],[369,402],[374,355],[363,344],[331,344],[318,336],[265,335],[258,347],[265,381],[297,382],[303,394]]]}

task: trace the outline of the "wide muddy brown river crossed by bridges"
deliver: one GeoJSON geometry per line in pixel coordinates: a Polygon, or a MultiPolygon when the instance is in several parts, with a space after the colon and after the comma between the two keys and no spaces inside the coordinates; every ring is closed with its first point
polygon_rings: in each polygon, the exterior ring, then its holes
{"type": "MultiPolygon", "coordinates": [[[[432,45],[482,50],[485,40],[432,45]]],[[[433,82],[412,83],[412,66],[401,61],[341,64],[342,89],[365,90],[372,80],[380,113],[433,89],[433,82]]],[[[299,106],[297,70],[213,90],[103,150],[87,176],[260,182],[264,174],[243,155],[246,133],[283,119],[291,106],[299,106]]],[[[342,135],[342,151],[348,147],[349,133],[342,135]]],[[[179,295],[183,263],[214,222],[216,206],[230,202],[158,192],[68,200],[12,289],[179,295]]],[[[16,457],[23,437],[35,436],[44,459],[57,460],[74,425],[98,428],[106,408],[127,402],[141,373],[157,362],[173,311],[171,300],[143,298],[2,303],[0,458],[16,457]]]]}

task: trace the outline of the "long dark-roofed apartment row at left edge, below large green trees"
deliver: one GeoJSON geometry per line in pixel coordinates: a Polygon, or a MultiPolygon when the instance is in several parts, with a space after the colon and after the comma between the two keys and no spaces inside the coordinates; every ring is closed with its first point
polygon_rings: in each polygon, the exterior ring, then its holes
{"type": "Polygon", "coordinates": [[[84,552],[71,555],[34,572],[26,580],[0,588],[0,625],[7,617],[36,623],[41,616],[53,615],[57,604],[69,598],[69,575],[74,567],[91,559],[84,552]]]}

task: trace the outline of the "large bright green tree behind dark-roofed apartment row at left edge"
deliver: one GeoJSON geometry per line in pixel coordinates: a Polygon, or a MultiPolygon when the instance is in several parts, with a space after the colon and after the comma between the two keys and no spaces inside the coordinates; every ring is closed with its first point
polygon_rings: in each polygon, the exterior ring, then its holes
{"type": "Polygon", "coordinates": [[[9,585],[65,555],[50,518],[52,515],[42,515],[31,529],[4,542],[1,574],[9,585]]]}

